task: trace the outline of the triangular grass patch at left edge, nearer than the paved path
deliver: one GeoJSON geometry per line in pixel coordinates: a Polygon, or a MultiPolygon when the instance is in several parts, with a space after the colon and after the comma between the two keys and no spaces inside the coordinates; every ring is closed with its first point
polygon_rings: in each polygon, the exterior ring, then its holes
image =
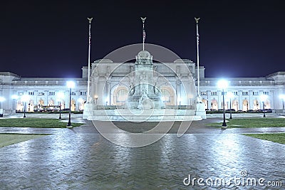
{"type": "Polygon", "coordinates": [[[0,147],[46,136],[46,134],[0,134],[0,147]]]}

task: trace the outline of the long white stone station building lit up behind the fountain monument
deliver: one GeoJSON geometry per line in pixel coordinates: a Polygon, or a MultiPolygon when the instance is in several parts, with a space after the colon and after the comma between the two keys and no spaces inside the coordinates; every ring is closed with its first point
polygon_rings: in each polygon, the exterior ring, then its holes
{"type": "MultiPolygon", "coordinates": [[[[152,59],[150,53],[147,52],[146,55],[148,56],[146,58],[152,59]]],[[[125,104],[132,90],[134,81],[132,72],[135,70],[135,62],[124,63],[122,68],[113,72],[112,67],[116,64],[108,59],[91,63],[90,96],[95,104],[108,106],[125,104]],[[128,78],[122,80],[126,75],[128,78]]],[[[192,60],[173,60],[172,63],[167,63],[171,70],[167,70],[163,63],[152,64],[155,71],[163,77],[154,75],[156,88],[162,93],[165,105],[195,105],[196,92],[191,92],[191,89],[193,87],[197,89],[197,65],[192,60]],[[182,64],[188,69],[183,69],[182,64]],[[175,72],[173,73],[172,70],[175,72]],[[183,78],[192,78],[194,81],[187,83],[192,87],[187,88],[189,92],[186,93],[181,87],[183,78]]],[[[217,86],[221,78],[207,78],[204,75],[204,69],[203,66],[199,67],[199,91],[204,107],[207,110],[222,109],[222,89],[217,86]]],[[[265,109],[283,112],[284,96],[283,99],[281,97],[285,94],[285,72],[276,72],[260,78],[224,79],[229,84],[227,89],[224,89],[225,109],[229,109],[232,104],[231,107],[234,110],[262,110],[264,103],[265,109]],[[230,99],[227,97],[229,93],[232,94],[230,99]],[[264,100],[261,100],[261,95],[265,95],[264,100]]],[[[71,91],[71,110],[84,110],[87,101],[88,67],[82,68],[81,78],[22,78],[16,73],[0,72],[0,109],[4,109],[4,115],[15,110],[24,111],[25,105],[26,112],[56,109],[59,105],[62,110],[67,109],[69,107],[69,88],[66,86],[68,80],[73,80],[76,84],[71,91]],[[62,97],[59,97],[60,93],[63,94],[62,97]]]]}

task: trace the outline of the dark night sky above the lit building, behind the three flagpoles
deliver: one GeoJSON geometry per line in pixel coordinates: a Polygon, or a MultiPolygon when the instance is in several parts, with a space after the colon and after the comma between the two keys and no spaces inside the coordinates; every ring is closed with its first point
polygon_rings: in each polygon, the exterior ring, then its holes
{"type": "MultiPolygon", "coordinates": [[[[196,62],[206,77],[262,77],[285,71],[282,1],[4,1],[0,5],[1,71],[22,77],[81,77],[91,61],[116,48],[154,43],[196,62]]],[[[155,58],[155,55],[153,55],[155,58]]]]}

